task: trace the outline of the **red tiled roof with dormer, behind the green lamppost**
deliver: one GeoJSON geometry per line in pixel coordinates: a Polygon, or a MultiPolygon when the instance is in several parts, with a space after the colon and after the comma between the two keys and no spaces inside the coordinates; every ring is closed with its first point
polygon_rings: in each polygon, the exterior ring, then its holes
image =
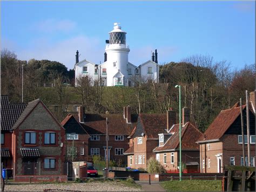
{"type": "MultiPolygon", "coordinates": [[[[172,136],[166,141],[164,146],[154,148],[154,152],[173,151],[179,147],[179,124],[175,124],[169,131],[172,136]]],[[[199,150],[199,145],[196,143],[201,133],[196,126],[188,122],[181,127],[181,148],[182,150],[199,150]]]]}

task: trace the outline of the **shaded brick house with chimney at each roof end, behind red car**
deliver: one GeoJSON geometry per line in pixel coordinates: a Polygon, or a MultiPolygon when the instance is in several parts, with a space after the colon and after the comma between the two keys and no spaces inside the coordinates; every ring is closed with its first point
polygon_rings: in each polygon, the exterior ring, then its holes
{"type": "MultiPolygon", "coordinates": [[[[124,151],[129,148],[127,137],[137,122],[137,115],[131,114],[131,107],[125,106],[123,114],[92,114],[84,113],[84,108],[78,108],[78,113],[72,113],[80,126],[89,133],[89,160],[92,155],[106,158],[106,118],[109,134],[109,160],[126,164],[124,151]]],[[[78,125],[77,125],[78,126],[78,125]]],[[[79,137],[79,136],[78,136],[79,137]]]]}

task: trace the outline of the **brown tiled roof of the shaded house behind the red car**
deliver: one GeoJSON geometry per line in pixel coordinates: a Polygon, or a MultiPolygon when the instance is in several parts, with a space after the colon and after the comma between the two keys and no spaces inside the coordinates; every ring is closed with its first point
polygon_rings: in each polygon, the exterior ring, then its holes
{"type": "MultiPolygon", "coordinates": [[[[78,113],[72,113],[73,117],[78,120],[78,113]]],[[[80,123],[89,134],[106,134],[106,118],[109,122],[109,135],[129,136],[133,127],[137,123],[137,115],[131,115],[131,122],[126,123],[123,114],[94,114],[85,113],[85,122],[80,123]]]]}

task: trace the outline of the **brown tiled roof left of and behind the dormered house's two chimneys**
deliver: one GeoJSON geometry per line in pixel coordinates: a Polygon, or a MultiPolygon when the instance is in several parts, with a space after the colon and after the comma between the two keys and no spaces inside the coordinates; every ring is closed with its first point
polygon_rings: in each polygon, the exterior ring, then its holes
{"type": "MultiPolygon", "coordinates": [[[[166,132],[166,113],[140,113],[139,117],[147,138],[158,139],[158,134],[166,132]]],[[[195,125],[192,114],[190,114],[190,119],[191,124],[195,125]]],[[[176,114],[176,123],[179,123],[179,114],[176,114]]]]}

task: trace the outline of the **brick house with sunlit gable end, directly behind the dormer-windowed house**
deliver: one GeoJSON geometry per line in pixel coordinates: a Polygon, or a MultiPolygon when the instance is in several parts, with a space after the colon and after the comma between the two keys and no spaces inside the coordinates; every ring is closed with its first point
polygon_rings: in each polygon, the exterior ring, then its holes
{"type": "MultiPolygon", "coordinates": [[[[156,158],[153,150],[159,146],[159,134],[165,133],[165,130],[170,125],[170,122],[167,121],[168,114],[168,112],[167,115],[161,113],[139,114],[137,126],[128,137],[130,139],[130,147],[124,153],[127,155],[129,167],[145,169],[147,160],[151,157],[156,158]]],[[[173,122],[179,122],[177,115],[172,116],[173,122]]]]}

